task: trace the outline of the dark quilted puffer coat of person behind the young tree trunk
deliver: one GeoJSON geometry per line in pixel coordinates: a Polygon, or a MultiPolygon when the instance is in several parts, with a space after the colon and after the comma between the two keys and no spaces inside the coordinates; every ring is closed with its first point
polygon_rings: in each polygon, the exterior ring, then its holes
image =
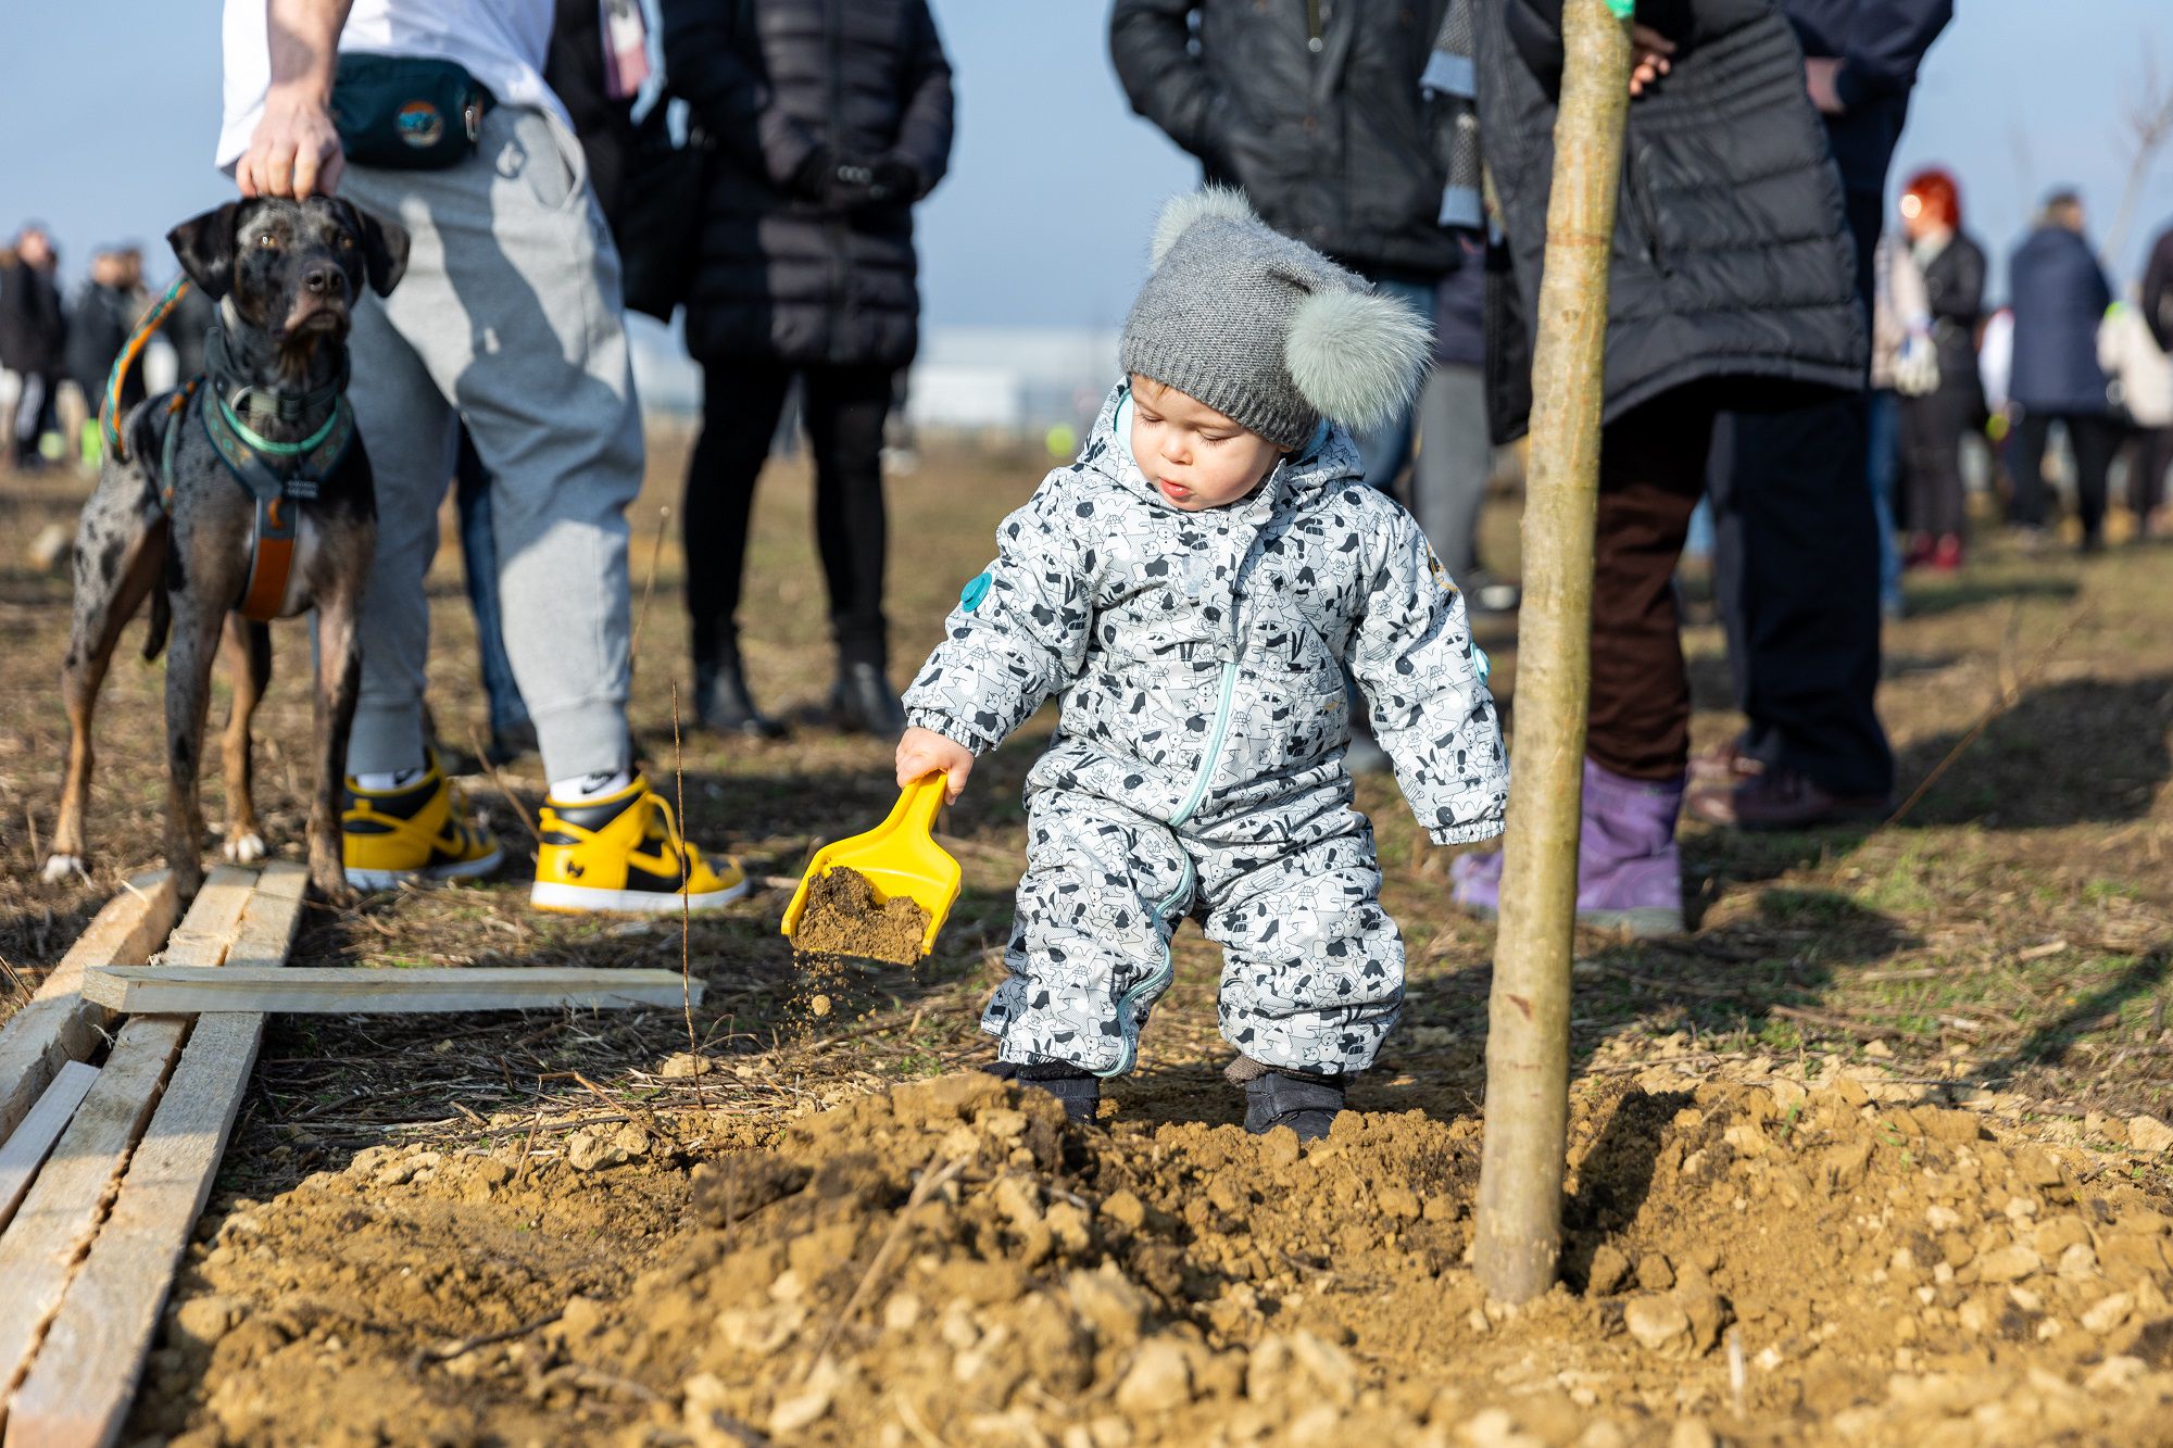
{"type": "MultiPolygon", "coordinates": [[[[1560,13],[1560,0],[1478,7],[1480,141],[1525,344],[1547,241],[1560,13]]],[[[1773,0],[1647,0],[1638,15],[1680,50],[1673,72],[1630,104],[1606,417],[1699,378],[1862,387],[1871,339],[1841,176],[1788,22],[1773,0]]]]}

